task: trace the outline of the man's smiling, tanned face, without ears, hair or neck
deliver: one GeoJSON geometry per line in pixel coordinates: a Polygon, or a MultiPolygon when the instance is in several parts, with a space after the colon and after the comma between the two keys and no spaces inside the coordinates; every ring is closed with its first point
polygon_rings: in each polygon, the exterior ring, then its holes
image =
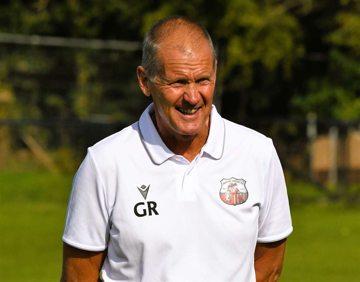
{"type": "Polygon", "coordinates": [[[149,82],[158,124],[169,133],[194,135],[201,131],[211,110],[216,70],[206,40],[185,45],[160,47],[162,69],[149,82]]]}

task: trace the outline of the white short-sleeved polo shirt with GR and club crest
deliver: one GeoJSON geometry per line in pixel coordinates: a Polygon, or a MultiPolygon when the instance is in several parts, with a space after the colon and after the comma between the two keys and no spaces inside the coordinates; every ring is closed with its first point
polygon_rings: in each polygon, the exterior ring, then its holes
{"type": "Polygon", "coordinates": [[[213,106],[207,142],[189,163],[163,143],[153,111],[88,149],[63,241],[108,249],[104,281],[255,281],[256,242],[292,232],[271,139],[213,106]]]}

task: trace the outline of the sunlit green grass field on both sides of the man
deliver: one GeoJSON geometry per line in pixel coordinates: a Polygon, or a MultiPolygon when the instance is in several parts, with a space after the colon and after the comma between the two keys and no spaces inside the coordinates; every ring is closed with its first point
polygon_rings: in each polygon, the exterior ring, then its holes
{"type": "MultiPolygon", "coordinates": [[[[72,177],[0,173],[0,281],[59,281],[72,177]]],[[[291,203],[291,213],[279,281],[360,281],[359,207],[291,203]]]]}

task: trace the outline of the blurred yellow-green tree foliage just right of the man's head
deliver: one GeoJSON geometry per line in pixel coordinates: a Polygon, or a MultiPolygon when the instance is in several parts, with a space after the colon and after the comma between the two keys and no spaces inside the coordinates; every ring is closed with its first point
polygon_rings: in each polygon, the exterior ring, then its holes
{"type": "Polygon", "coordinates": [[[230,1],[215,34],[228,42],[222,77],[241,66],[243,88],[253,83],[255,63],[268,71],[283,65],[284,76],[290,77],[292,63],[304,53],[300,24],[283,4],[230,1]]]}

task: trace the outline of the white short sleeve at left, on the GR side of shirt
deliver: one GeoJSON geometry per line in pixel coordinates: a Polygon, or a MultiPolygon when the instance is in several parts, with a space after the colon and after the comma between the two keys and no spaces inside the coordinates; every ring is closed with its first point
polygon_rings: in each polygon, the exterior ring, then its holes
{"type": "Polygon", "coordinates": [[[90,147],[72,183],[62,239],[79,249],[105,250],[109,218],[104,184],[90,147]]]}

